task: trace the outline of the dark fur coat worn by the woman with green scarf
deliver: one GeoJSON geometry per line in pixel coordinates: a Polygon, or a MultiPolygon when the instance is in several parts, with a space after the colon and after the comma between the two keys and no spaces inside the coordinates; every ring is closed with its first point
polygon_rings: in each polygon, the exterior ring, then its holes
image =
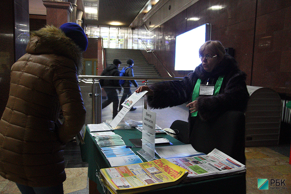
{"type": "MultiPolygon", "coordinates": [[[[201,84],[216,83],[219,76],[224,75],[217,96],[198,97],[198,117],[203,121],[211,121],[229,110],[246,110],[249,92],[246,88],[246,74],[238,69],[233,57],[226,54],[212,72],[206,72],[200,64],[194,72],[189,73],[181,81],[165,81],[150,86],[153,96],[147,96],[148,105],[152,108],[166,108],[192,102],[192,93],[198,78],[201,84]]],[[[189,111],[189,122],[191,113],[189,111]]],[[[190,126],[193,123],[190,123],[190,126]]]]}

